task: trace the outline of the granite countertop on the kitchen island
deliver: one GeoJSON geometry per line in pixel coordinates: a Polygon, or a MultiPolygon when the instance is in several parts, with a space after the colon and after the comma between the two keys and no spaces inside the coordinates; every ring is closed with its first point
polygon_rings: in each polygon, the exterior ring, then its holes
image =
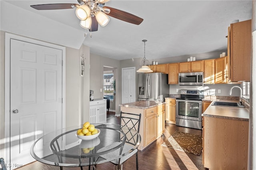
{"type": "Polygon", "coordinates": [[[148,109],[150,107],[155,107],[157,105],[162,105],[164,102],[160,101],[136,101],[132,103],[124,103],[120,104],[119,106],[122,107],[133,107],[133,108],[138,108],[138,109],[148,109]]]}

